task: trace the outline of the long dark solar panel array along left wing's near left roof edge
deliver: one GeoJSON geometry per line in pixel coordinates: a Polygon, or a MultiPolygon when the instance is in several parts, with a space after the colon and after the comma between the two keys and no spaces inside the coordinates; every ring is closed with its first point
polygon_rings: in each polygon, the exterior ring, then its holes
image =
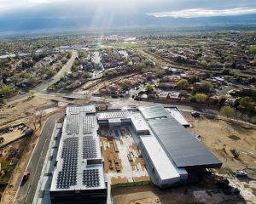
{"type": "Polygon", "coordinates": [[[64,139],[61,151],[63,164],[56,183],[58,189],[69,189],[71,185],[77,184],[78,152],[79,138],[64,139]]]}

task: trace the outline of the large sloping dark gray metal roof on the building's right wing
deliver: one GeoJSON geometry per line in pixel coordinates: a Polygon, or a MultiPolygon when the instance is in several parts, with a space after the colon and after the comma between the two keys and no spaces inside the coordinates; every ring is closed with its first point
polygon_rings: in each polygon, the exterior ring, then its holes
{"type": "Polygon", "coordinates": [[[148,121],[156,138],[177,167],[220,167],[222,162],[174,118],[148,121]]]}

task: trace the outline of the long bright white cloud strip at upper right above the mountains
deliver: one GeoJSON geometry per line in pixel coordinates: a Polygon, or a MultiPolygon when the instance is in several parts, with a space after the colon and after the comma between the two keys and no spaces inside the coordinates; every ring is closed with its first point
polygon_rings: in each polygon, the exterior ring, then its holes
{"type": "Polygon", "coordinates": [[[197,18],[197,17],[213,17],[213,16],[229,16],[241,14],[256,14],[256,8],[230,8],[230,9],[207,9],[207,8],[193,8],[183,9],[177,11],[165,11],[150,13],[157,18],[174,17],[174,18],[197,18]]]}

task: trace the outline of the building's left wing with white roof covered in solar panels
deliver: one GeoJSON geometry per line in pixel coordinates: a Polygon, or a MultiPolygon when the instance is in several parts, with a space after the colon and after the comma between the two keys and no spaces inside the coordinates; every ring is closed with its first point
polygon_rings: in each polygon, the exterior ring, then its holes
{"type": "Polygon", "coordinates": [[[97,129],[95,105],[67,106],[49,191],[51,203],[106,203],[97,129]]]}

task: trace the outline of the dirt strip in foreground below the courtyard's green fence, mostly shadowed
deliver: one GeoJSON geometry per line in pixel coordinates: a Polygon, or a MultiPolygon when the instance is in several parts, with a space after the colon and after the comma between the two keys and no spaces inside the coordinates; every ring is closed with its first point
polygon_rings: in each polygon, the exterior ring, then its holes
{"type": "Polygon", "coordinates": [[[188,187],[171,190],[158,190],[150,185],[131,186],[112,190],[114,204],[236,204],[242,203],[237,195],[224,195],[216,189],[202,190],[190,186],[189,193],[184,194],[188,187]]]}

